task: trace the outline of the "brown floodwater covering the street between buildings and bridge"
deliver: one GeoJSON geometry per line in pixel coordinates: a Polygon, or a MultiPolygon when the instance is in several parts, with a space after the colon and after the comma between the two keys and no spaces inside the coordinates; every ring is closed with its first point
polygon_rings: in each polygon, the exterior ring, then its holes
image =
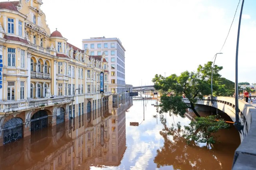
{"type": "MultiPolygon", "coordinates": [[[[204,144],[187,145],[181,136],[164,131],[153,103],[155,100],[145,100],[144,114],[141,100],[119,108],[109,106],[107,113],[94,120],[85,114],[74,122],[48,127],[2,146],[0,170],[231,169],[240,144],[233,125],[218,132],[212,149],[204,144]]],[[[166,118],[167,127],[180,121],[182,129],[190,122],[168,114],[162,118],[166,118]]]]}

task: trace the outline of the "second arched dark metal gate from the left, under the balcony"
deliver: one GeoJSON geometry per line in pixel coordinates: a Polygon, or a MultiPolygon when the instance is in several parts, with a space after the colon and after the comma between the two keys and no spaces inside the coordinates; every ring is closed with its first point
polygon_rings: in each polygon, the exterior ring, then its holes
{"type": "Polygon", "coordinates": [[[48,115],[45,110],[36,112],[31,118],[31,132],[47,127],[48,115]]]}

